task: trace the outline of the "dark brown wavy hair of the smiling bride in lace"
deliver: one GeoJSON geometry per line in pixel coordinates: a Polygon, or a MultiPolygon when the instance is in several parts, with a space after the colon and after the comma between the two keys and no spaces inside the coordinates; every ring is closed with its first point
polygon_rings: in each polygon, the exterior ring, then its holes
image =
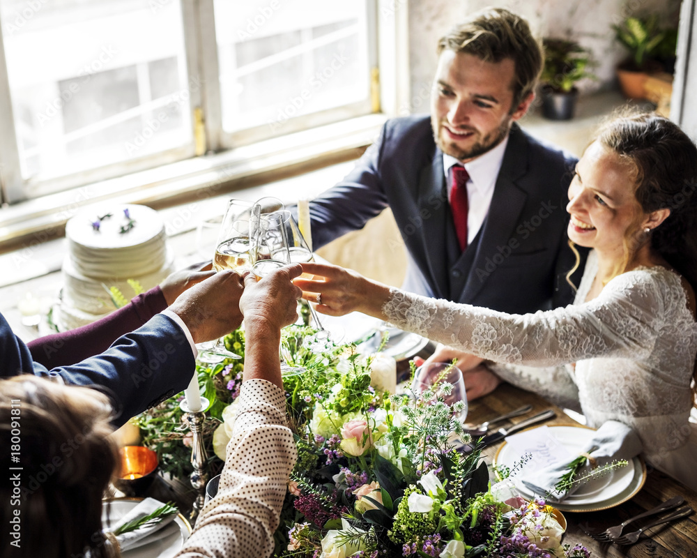
{"type": "Polygon", "coordinates": [[[606,123],[597,140],[636,166],[636,199],[645,213],[671,210],[651,231],[651,246],[697,289],[694,142],[677,124],[652,113],[619,116],[606,123]]]}

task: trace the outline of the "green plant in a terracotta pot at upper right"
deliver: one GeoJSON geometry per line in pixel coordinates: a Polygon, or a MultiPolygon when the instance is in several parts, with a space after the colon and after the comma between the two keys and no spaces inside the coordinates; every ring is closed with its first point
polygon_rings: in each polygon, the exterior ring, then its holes
{"type": "Polygon", "coordinates": [[[659,29],[656,14],[645,18],[627,17],[622,24],[613,25],[613,29],[615,38],[631,54],[617,68],[620,89],[627,98],[643,99],[648,75],[662,70],[656,57],[661,54],[669,32],[659,29]]]}

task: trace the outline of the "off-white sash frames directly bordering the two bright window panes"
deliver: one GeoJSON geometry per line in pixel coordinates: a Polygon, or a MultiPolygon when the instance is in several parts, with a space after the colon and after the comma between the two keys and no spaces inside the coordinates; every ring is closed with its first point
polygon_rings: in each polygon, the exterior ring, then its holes
{"type": "MultiPolygon", "coordinates": [[[[369,22],[367,52],[371,69],[378,67],[376,18],[380,1],[368,0],[369,13],[366,14],[369,22]]],[[[0,43],[2,43],[0,44],[0,94],[2,94],[0,122],[3,122],[3,126],[0,127],[0,202],[16,204],[86,184],[111,181],[124,174],[176,163],[206,152],[217,153],[273,137],[273,133],[266,124],[235,133],[226,133],[222,130],[213,0],[181,0],[181,9],[188,80],[189,84],[195,85],[190,86],[189,103],[190,126],[193,130],[192,142],[160,153],[43,180],[27,180],[22,177],[0,22],[0,43]],[[202,124],[197,121],[197,114],[203,115],[202,124]],[[199,126],[200,132],[197,130],[199,126]],[[197,149],[199,133],[203,133],[204,137],[199,137],[199,149],[197,149]]],[[[284,135],[377,112],[378,105],[379,103],[376,104],[375,100],[368,98],[360,103],[298,116],[284,123],[284,135]]]]}

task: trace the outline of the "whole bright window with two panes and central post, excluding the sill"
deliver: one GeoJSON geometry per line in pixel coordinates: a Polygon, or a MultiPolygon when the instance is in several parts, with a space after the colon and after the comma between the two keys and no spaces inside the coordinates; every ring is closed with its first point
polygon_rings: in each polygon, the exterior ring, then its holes
{"type": "Polygon", "coordinates": [[[371,0],[0,0],[4,201],[367,114],[374,11],[371,0]]]}

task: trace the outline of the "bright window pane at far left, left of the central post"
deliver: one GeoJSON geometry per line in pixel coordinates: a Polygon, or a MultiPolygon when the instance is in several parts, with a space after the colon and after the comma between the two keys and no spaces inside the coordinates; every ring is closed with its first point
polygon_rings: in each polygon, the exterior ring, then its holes
{"type": "Polygon", "coordinates": [[[24,178],[192,142],[178,0],[0,0],[24,178]]]}

